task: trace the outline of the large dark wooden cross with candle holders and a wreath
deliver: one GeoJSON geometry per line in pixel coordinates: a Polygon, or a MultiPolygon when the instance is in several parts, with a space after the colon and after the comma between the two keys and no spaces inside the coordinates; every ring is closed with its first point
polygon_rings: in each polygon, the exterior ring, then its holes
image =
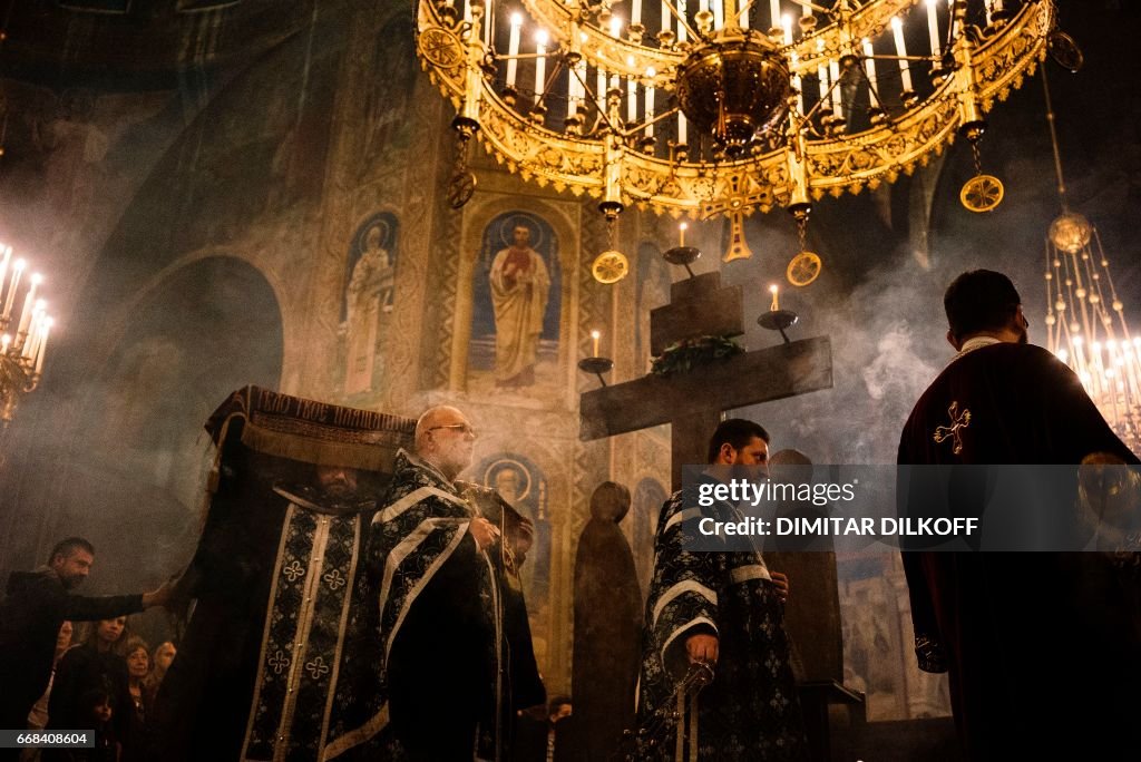
{"type": "MultiPolygon", "coordinates": [[[[674,283],[670,303],[650,311],[650,349],[662,354],[685,339],[741,335],[739,285],[721,287],[720,273],[674,283]]],[[[723,411],[832,388],[832,344],[825,337],[735,355],[669,376],[647,375],[594,389],[580,400],[583,441],[669,423],[673,488],[681,467],[706,462],[706,448],[723,411]]]]}

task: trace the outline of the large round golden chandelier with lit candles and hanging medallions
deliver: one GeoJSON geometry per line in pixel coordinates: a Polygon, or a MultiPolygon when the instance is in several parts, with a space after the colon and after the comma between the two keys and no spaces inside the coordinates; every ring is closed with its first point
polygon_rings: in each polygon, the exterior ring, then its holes
{"type": "MultiPolygon", "coordinates": [[[[418,50],[458,111],[453,206],[478,135],[525,179],[598,198],[612,242],[630,205],[728,216],[728,261],[751,256],[744,214],[787,209],[803,249],[812,200],[895,181],[956,135],[978,169],[961,200],[993,209],[984,114],[1054,23],[1051,0],[420,0],[418,50]]],[[[819,259],[800,264],[803,285],[819,259]]]]}

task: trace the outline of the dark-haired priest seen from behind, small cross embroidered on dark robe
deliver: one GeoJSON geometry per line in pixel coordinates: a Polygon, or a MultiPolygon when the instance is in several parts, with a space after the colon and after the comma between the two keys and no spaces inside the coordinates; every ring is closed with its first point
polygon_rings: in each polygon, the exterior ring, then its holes
{"type": "MultiPolygon", "coordinates": [[[[1077,375],[1027,343],[1010,278],[964,273],[944,306],[957,354],[912,411],[900,464],[1138,463],[1077,375]]],[[[972,509],[971,487],[956,509],[972,509]]],[[[986,495],[973,500],[981,510],[986,495]]],[[[904,505],[928,502],[909,493],[904,505]]],[[[920,668],[949,672],[971,759],[1120,759],[1135,743],[1141,639],[1111,557],[905,552],[904,569],[920,668]]]]}

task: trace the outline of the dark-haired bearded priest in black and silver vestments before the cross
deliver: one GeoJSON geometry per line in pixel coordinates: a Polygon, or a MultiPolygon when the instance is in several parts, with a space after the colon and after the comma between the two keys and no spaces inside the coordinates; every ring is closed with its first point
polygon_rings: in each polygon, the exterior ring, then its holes
{"type": "MultiPolygon", "coordinates": [[[[722,422],[710,440],[711,468],[703,479],[725,480],[733,465],[767,465],[768,441],[758,423],[722,422]]],[[[695,519],[733,520],[736,510],[720,502],[702,508],[697,488],[689,485],[666,501],[654,538],[637,759],[681,762],[680,747],[690,762],[807,760],[783,624],[788,579],[770,572],[756,551],[687,550],[695,519]],[[697,695],[696,716],[690,712],[679,743],[678,687],[694,664],[709,665],[715,676],[697,695]]]]}

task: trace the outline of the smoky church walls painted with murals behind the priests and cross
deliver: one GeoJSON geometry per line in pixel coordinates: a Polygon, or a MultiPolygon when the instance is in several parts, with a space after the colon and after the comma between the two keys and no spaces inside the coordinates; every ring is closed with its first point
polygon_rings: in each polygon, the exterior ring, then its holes
{"type": "MultiPolygon", "coordinates": [[[[406,0],[0,8],[0,240],[44,274],[56,318],[40,387],[0,432],[0,574],[41,564],[70,535],[99,551],[87,593],[175,573],[202,526],[213,459],[203,423],[245,384],[408,418],[455,405],[479,432],[466,478],[534,524],[524,592],[535,656],[549,695],[570,694],[591,495],[607,480],[630,491],[620,528],[645,595],[672,491],[669,425],[580,438],[580,396],[599,379],[577,364],[613,358],[607,383],[647,374],[649,313],[687,275],[661,258],[678,220],[624,211],[616,241],[630,275],[602,284],[591,275],[609,248],[596,200],[527,183],[472,145],[478,185],[453,209],[455,110],[422,70],[406,0]],[[540,319],[509,337],[497,289],[512,267],[536,266],[540,319]],[[511,365],[512,351],[534,363],[511,365]]],[[[1085,54],[1077,73],[1043,64],[1068,202],[1097,225],[1136,315],[1141,7],[1057,10],[1085,54]]],[[[731,262],[726,220],[688,219],[686,241],[703,251],[694,270],[742,286],[748,350],[780,341],[756,324],[771,283],[800,315],[790,338],[831,341],[831,388],[731,411],[761,422],[774,452],[895,463],[912,405],[953,354],[940,305],[963,270],[1009,274],[1030,341],[1045,342],[1043,248],[1059,202],[1038,75],[987,117],[998,208],[961,205],[974,164],[955,140],[891,185],[815,202],[808,243],[824,267],[804,287],[784,279],[798,238],[782,209],[746,218],[753,256],[731,262]]],[[[793,595],[811,584],[796,579],[793,595]]],[[[923,738],[953,738],[946,678],[915,665],[898,554],[840,553],[834,584],[837,668],[866,696],[867,737],[896,732],[921,751],[936,743],[923,738]]],[[[171,624],[151,610],[138,629],[157,643],[171,624]]]]}

